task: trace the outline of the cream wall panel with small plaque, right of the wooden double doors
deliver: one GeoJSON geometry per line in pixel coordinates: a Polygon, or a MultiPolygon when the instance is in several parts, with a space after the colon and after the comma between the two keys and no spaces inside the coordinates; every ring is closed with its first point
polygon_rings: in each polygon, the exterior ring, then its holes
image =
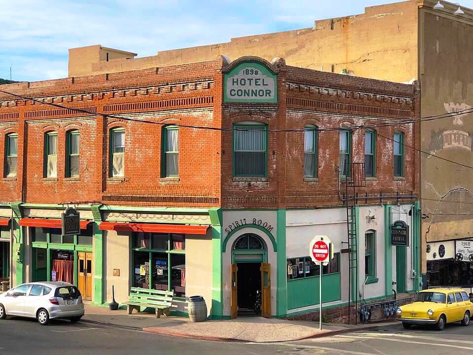
{"type": "Polygon", "coordinates": [[[130,279],[130,233],[106,231],[104,240],[105,270],[104,287],[106,290],[106,302],[111,302],[111,286],[115,286],[115,301],[122,303],[128,300],[131,285],[130,279]],[[120,276],[113,276],[113,269],[120,269],[120,276]]]}

